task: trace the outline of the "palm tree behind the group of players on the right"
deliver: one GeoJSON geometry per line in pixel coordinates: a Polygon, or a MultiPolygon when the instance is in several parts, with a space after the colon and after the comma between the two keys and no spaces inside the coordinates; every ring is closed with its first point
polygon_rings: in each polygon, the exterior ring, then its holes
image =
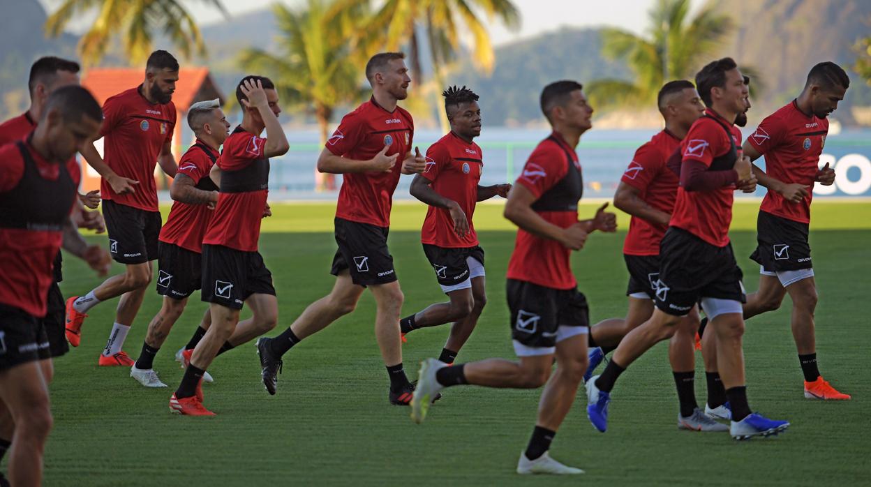
{"type": "Polygon", "coordinates": [[[635,81],[592,82],[587,91],[597,105],[649,105],[665,81],[692,78],[710,60],[719,41],[732,29],[732,17],[719,13],[713,0],[692,17],[691,6],[690,0],[658,0],[649,12],[650,26],[644,37],[614,28],[603,31],[604,56],[625,59],[635,81]]]}

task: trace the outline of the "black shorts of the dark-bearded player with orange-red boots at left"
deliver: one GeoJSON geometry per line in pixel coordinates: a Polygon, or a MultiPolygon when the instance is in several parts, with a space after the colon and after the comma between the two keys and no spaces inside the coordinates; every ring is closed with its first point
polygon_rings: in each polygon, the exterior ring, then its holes
{"type": "Polygon", "coordinates": [[[103,200],[103,219],[109,234],[109,253],[121,264],[142,264],[158,258],[160,212],[103,200]]]}

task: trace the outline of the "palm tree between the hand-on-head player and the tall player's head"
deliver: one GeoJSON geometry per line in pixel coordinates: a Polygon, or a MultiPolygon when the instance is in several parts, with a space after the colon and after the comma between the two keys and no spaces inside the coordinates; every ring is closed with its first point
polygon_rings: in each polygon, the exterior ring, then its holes
{"type": "MultiPolygon", "coordinates": [[[[328,0],[307,0],[306,8],[273,5],[280,32],[274,51],[250,48],[240,54],[247,71],[272,78],[289,105],[314,114],[327,142],[327,125],[337,105],[363,95],[361,64],[355,62],[351,37],[362,29],[368,6],[362,3],[333,11],[328,0]]],[[[333,175],[316,173],[319,190],[333,189],[333,175]]]]}

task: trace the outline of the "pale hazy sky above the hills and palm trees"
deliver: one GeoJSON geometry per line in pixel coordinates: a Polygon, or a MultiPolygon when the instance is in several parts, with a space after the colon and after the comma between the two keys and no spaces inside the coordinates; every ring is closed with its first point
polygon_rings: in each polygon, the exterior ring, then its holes
{"type": "MultiPolygon", "coordinates": [[[[231,14],[244,13],[250,10],[265,8],[275,0],[224,0],[226,9],[231,14]]],[[[283,3],[295,5],[303,0],[281,0],[283,3]]],[[[494,25],[490,35],[494,44],[504,44],[522,37],[534,36],[547,30],[556,30],[560,26],[593,26],[615,25],[627,30],[639,32],[644,28],[647,10],[654,0],[514,0],[520,9],[523,24],[519,32],[510,32],[499,25],[494,25]]],[[[39,0],[46,10],[57,8],[59,0],[39,0]]],[[[183,0],[182,3],[198,18],[201,24],[220,22],[220,14],[203,2],[183,0]]],[[[699,3],[693,2],[693,3],[699,3]]],[[[90,24],[87,20],[71,23],[71,30],[81,32],[90,24]]]]}

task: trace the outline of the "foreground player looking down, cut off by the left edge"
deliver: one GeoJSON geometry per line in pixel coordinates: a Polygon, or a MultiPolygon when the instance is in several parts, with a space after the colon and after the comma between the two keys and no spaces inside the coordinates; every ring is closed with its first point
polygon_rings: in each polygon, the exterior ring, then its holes
{"type": "Polygon", "coordinates": [[[51,430],[49,390],[40,364],[49,342],[40,318],[48,311],[52,261],[61,243],[104,272],[110,259],[89,247],[72,225],[81,173],[69,161],[93,140],[103,113],[91,93],[64,86],[51,93],[37,127],[0,148],[0,400],[15,424],[10,483],[39,485],[51,430]]]}

